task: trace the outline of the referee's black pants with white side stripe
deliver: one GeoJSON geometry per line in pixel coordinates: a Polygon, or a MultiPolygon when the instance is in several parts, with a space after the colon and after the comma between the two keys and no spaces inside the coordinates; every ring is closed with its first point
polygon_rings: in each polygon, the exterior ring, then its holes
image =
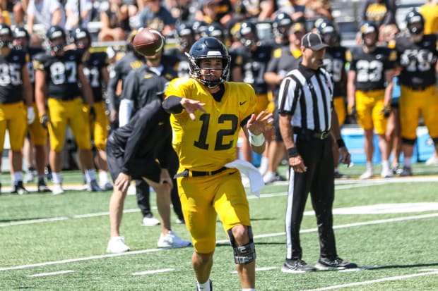
{"type": "Polygon", "coordinates": [[[314,137],[296,136],[297,150],[307,166],[304,173],[291,169],[286,207],[287,259],[301,259],[300,226],[304,206],[310,192],[312,206],[316,213],[321,257],[336,256],[333,233],[332,207],[334,200],[334,168],[331,135],[324,140],[314,137]]]}

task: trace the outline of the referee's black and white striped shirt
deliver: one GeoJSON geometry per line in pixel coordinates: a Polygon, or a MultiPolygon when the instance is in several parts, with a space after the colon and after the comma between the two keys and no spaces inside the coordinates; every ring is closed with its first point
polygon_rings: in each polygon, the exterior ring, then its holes
{"type": "Polygon", "coordinates": [[[333,81],[324,68],[300,64],[283,79],[278,92],[278,113],[292,115],[292,126],[329,131],[333,109],[333,81]]]}

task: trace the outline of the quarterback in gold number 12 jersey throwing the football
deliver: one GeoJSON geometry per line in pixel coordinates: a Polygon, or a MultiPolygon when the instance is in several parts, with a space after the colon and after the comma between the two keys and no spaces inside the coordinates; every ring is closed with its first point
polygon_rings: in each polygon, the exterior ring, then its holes
{"type": "Polygon", "coordinates": [[[240,128],[254,151],[264,151],[272,114],[254,114],[256,94],[250,85],[226,82],[230,56],[218,39],[195,42],[189,68],[191,78],[170,82],[163,107],[172,113],[172,144],[180,162],[177,184],[194,244],[191,261],[198,290],[211,290],[216,216],[231,242],[242,288],[255,290],[249,204],[239,171],[225,165],[235,160],[240,128]]]}

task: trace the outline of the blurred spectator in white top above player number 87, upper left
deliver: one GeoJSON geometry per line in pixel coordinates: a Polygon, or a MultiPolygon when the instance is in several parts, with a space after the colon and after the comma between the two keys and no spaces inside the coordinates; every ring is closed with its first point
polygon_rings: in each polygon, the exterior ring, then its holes
{"type": "Polygon", "coordinates": [[[33,25],[35,24],[44,25],[45,32],[51,25],[64,28],[66,22],[64,7],[59,1],[30,0],[26,13],[28,15],[27,29],[30,35],[34,31],[33,25]]]}

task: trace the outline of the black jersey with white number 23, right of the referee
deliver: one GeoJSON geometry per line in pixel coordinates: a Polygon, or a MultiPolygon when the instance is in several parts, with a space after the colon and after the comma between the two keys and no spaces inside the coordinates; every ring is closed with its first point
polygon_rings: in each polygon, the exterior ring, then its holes
{"type": "Polygon", "coordinates": [[[356,71],[355,85],[360,91],[385,89],[385,70],[395,68],[397,52],[386,47],[377,47],[365,53],[363,47],[353,47],[347,51],[350,70],[356,71]]]}

